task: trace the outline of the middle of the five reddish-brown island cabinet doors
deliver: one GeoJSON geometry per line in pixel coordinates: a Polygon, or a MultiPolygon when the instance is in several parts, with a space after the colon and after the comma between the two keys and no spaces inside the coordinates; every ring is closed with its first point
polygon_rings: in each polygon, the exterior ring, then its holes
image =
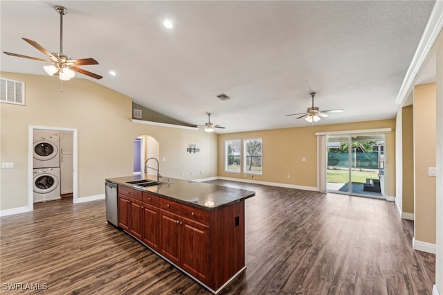
{"type": "Polygon", "coordinates": [[[159,251],[159,208],[143,203],[143,242],[159,251]]]}

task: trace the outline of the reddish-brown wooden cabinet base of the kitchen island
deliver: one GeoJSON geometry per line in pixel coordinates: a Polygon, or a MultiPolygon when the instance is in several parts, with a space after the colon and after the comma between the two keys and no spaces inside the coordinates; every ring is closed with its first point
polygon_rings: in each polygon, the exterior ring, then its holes
{"type": "Polygon", "coordinates": [[[213,292],[244,267],[244,200],[213,211],[118,186],[118,225],[213,292]]]}

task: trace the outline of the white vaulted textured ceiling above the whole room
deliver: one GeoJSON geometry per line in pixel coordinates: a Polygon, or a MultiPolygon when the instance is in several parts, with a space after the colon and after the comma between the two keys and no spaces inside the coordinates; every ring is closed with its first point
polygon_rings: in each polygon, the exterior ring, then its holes
{"type": "MultiPolygon", "coordinates": [[[[83,69],[134,102],[219,133],[309,125],[286,114],[345,109],[317,124],[395,118],[434,1],[0,1],[1,51],[93,57],[83,69]],[[167,29],[163,20],[174,28],[167,29]],[[116,71],[117,76],[109,75],[116,71]],[[230,100],[216,96],[226,93],[230,100]]],[[[0,70],[46,75],[1,53],[0,70]]],[[[57,78],[54,78],[57,79],[57,78]]]]}

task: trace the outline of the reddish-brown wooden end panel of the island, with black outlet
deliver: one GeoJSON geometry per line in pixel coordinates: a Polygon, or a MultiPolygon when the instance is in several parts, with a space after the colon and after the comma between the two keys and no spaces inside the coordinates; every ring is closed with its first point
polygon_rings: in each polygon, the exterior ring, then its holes
{"type": "Polygon", "coordinates": [[[244,200],[210,213],[214,254],[210,287],[219,289],[244,267],[244,200]]]}

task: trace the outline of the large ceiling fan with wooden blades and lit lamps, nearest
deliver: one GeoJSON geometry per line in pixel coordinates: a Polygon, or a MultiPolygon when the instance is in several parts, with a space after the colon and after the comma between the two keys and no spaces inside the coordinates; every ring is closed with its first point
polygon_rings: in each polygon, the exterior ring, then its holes
{"type": "Polygon", "coordinates": [[[49,57],[48,60],[45,60],[43,58],[39,57],[32,57],[27,55],[21,55],[17,53],[10,53],[7,51],[3,51],[3,53],[6,53],[7,55],[17,56],[17,57],[24,57],[28,58],[30,60],[39,60],[41,62],[49,62],[51,65],[43,66],[46,73],[49,75],[58,75],[60,80],[70,80],[74,77],[75,72],[82,73],[83,75],[89,75],[89,77],[101,79],[103,78],[101,75],[97,75],[95,73],[91,73],[89,71],[85,71],[84,69],[80,69],[78,66],[87,66],[89,64],[98,64],[96,60],[94,60],[92,57],[89,58],[80,58],[76,60],[71,60],[67,55],[63,54],[63,16],[66,15],[68,10],[64,8],[63,6],[55,6],[55,10],[60,14],[60,53],[50,53],[45,48],[43,48],[40,44],[37,42],[31,40],[31,39],[24,39],[26,42],[28,42],[30,45],[37,48],[38,51],[42,52],[44,55],[49,57]]]}

